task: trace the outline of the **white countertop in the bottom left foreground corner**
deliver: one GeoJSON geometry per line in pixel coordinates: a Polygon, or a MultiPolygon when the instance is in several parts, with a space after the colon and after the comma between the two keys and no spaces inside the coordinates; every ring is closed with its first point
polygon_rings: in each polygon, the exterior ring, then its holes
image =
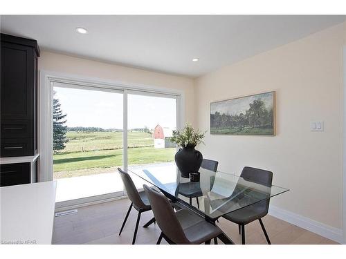
{"type": "Polygon", "coordinates": [[[56,182],[0,188],[1,244],[51,244],[56,182]]]}

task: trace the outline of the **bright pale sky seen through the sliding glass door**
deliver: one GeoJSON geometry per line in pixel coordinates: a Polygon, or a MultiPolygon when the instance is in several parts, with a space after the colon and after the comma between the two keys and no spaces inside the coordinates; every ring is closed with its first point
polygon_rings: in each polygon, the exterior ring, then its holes
{"type": "MultiPolygon", "coordinates": [[[[66,125],[122,128],[122,94],[99,90],[54,87],[66,125]]],[[[176,128],[176,99],[127,95],[128,128],[153,129],[157,124],[176,128]]]]}

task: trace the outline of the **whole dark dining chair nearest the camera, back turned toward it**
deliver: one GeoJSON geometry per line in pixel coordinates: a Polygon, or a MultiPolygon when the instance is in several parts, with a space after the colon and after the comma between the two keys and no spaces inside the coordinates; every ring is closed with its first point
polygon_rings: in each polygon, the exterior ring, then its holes
{"type": "Polygon", "coordinates": [[[174,212],[170,201],[156,189],[143,186],[149,198],[161,235],[156,244],[164,238],[169,244],[210,244],[222,231],[215,225],[188,209],[174,212]]]}

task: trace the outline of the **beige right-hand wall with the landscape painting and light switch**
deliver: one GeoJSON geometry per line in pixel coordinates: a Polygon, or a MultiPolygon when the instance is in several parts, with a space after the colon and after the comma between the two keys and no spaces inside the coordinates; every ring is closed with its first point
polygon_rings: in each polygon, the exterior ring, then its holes
{"type": "Polygon", "coordinates": [[[210,126],[209,104],[276,91],[275,137],[206,135],[204,157],[221,171],[243,166],[273,171],[273,184],[291,191],[271,204],[341,228],[342,67],[346,23],[226,66],[195,80],[196,124],[210,126]],[[325,122],[311,132],[312,120],[325,122]]]}

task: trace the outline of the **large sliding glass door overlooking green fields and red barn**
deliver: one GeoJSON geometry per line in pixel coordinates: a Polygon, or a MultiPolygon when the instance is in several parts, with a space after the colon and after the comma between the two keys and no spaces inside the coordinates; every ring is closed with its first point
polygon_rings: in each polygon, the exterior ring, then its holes
{"type": "Polygon", "coordinates": [[[118,167],[165,171],[174,162],[177,96],[62,83],[53,93],[57,202],[124,195],[118,167]]]}

